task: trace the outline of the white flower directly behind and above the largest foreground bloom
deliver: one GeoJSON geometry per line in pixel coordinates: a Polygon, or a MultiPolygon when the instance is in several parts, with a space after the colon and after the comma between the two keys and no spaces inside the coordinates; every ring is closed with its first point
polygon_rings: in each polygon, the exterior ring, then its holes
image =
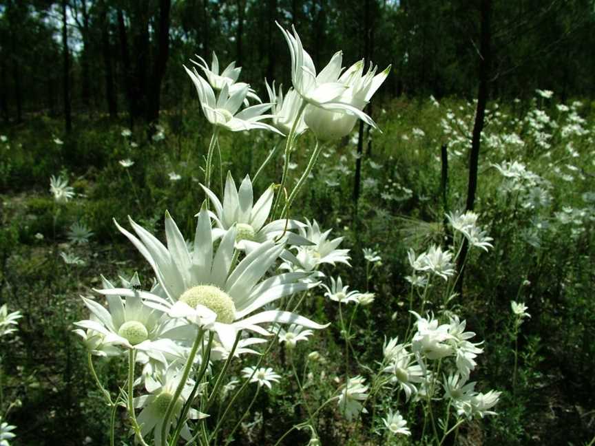
{"type": "Polygon", "coordinates": [[[222,237],[235,225],[236,248],[238,249],[246,249],[247,246],[244,242],[246,240],[249,242],[264,243],[267,240],[278,241],[282,235],[287,236],[287,242],[290,244],[311,244],[306,238],[290,231],[291,229],[299,229],[300,226],[303,226],[303,224],[295,222],[295,220],[275,220],[269,224],[264,224],[269,218],[271,205],[273,204],[272,185],[260,195],[260,198],[255,204],[252,182],[249,176],[244,178],[238,190],[231,173],[227,173],[223,204],[221,204],[217,195],[210,189],[207,189],[205,186],[202,186],[202,189],[205,190],[215,210],[215,213],[209,213],[217,226],[213,229],[214,237],[222,237]]]}

